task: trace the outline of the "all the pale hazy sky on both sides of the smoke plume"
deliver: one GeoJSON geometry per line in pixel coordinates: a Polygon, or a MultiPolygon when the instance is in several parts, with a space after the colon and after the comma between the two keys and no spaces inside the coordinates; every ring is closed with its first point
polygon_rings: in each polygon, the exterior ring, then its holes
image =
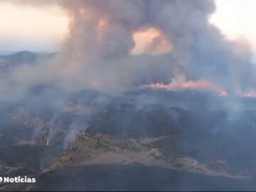
{"type": "MultiPolygon", "coordinates": [[[[227,36],[245,36],[256,53],[256,1],[216,0],[210,18],[227,36]]],[[[57,5],[35,7],[0,0],[0,53],[18,50],[58,50],[68,33],[68,16],[57,5]]]]}

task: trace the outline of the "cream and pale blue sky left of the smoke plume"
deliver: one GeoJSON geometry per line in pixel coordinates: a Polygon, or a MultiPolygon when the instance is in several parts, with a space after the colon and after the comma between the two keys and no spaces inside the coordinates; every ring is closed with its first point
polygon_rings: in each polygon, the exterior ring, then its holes
{"type": "Polygon", "coordinates": [[[68,33],[68,18],[57,5],[29,6],[0,0],[0,53],[52,51],[68,33]]]}

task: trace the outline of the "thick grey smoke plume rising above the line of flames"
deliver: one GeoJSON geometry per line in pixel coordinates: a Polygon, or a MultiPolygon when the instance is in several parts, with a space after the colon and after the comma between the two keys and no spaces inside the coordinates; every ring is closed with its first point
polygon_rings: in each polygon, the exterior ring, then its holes
{"type": "MultiPolygon", "coordinates": [[[[35,5],[49,3],[40,2],[35,5]]],[[[34,85],[43,84],[68,91],[87,87],[126,90],[152,82],[170,82],[176,75],[188,80],[206,79],[228,92],[255,87],[255,70],[246,43],[226,40],[218,28],[208,23],[215,11],[214,1],[54,3],[70,17],[70,33],[63,50],[48,63],[14,68],[1,75],[2,95],[22,96],[34,85]],[[138,43],[134,33],[149,28],[160,31],[162,36],[154,37],[147,52],[132,54],[138,43]],[[153,54],[162,41],[169,41],[171,49],[153,54]]]]}

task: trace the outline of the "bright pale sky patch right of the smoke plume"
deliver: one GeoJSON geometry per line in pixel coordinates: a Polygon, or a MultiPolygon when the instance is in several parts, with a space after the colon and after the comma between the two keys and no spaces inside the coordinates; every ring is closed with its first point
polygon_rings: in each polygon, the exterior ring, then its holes
{"type": "Polygon", "coordinates": [[[217,10],[210,18],[230,40],[243,37],[251,44],[256,55],[256,1],[215,0],[217,10]]]}

